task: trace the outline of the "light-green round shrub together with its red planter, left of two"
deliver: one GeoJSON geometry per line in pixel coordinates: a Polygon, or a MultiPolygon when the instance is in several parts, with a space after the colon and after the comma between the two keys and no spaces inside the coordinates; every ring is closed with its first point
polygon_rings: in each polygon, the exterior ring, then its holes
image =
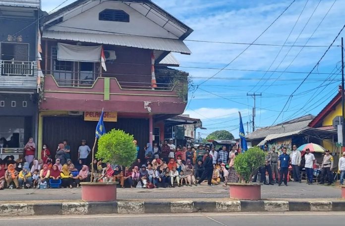
{"type": "MultiPolygon", "coordinates": [[[[130,166],[136,158],[133,136],[122,130],[112,129],[98,141],[97,159],[111,165],[130,166]]],[[[81,197],[84,201],[115,201],[118,182],[81,183],[81,197]]]]}

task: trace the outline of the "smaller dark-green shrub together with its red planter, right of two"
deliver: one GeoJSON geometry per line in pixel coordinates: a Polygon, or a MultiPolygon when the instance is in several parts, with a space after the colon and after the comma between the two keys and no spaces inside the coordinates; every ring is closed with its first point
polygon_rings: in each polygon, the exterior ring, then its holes
{"type": "Polygon", "coordinates": [[[265,165],[265,153],[258,147],[250,148],[236,156],[234,169],[239,175],[238,183],[228,183],[230,198],[244,200],[261,199],[261,183],[250,183],[256,171],[265,165]]]}

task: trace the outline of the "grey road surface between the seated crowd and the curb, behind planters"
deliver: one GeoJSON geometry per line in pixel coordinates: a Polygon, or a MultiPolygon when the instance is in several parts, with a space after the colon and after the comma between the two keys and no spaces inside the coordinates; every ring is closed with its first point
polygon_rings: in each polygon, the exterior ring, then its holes
{"type": "MultiPolygon", "coordinates": [[[[335,186],[288,183],[288,187],[275,185],[261,186],[262,198],[340,198],[341,189],[335,186]]],[[[229,188],[222,185],[209,187],[207,183],[193,187],[158,189],[118,188],[117,199],[198,199],[229,198],[229,188]]],[[[30,200],[80,200],[81,189],[4,189],[0,191],[0,201],[30,200]]]]}

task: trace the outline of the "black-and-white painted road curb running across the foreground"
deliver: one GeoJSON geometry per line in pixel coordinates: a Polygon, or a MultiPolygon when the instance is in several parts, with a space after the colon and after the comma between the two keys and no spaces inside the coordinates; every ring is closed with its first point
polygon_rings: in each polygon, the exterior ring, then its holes
{"type": "Polygon", "coordinates": [[[345,211],[345,200],[150,200],[115,202],[0,203],[0,216],[91,215],[91,214],[170,214],[230,212],[345,211]]]}

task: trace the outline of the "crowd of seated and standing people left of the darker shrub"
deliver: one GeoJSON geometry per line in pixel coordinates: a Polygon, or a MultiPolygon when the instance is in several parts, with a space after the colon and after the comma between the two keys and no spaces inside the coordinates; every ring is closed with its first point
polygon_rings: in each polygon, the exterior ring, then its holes
{"type": "MultiPolygon", "coordinates": [[[[59,187],[79,188],[80,182],[90,181],[91,178],[95,182],[117,181],[122,188],[197,186],[204,180],[213,186],[222,181],[238,180],[232,168],[236,150],[228,152],[225,146],[218,152],[203,145],[197,150],[190,146],[176,148],[172,141],[165,141],[162,145],[155,143],[153,146],[148,143],[144,148],[145,159],[138,158],[131,166],[112,166],[97,159],[88,165],[86,159],[90,148],[85,143],[82,140],[79,159],[74,164],[68,158],[70,148],[66,140],[58,145],[54,160],[47,145],[42,150],[42,159],[27,158],[26,155],[16,161],[13,156],[0,159],[0,189],[38,189],[42,188],[40,185],[43,183],[49,188],[52,180],[59,180],[59,187]]],[[[32,139],[26,147],[28,145],[30,149],[36,148],[32,139]]]]}

